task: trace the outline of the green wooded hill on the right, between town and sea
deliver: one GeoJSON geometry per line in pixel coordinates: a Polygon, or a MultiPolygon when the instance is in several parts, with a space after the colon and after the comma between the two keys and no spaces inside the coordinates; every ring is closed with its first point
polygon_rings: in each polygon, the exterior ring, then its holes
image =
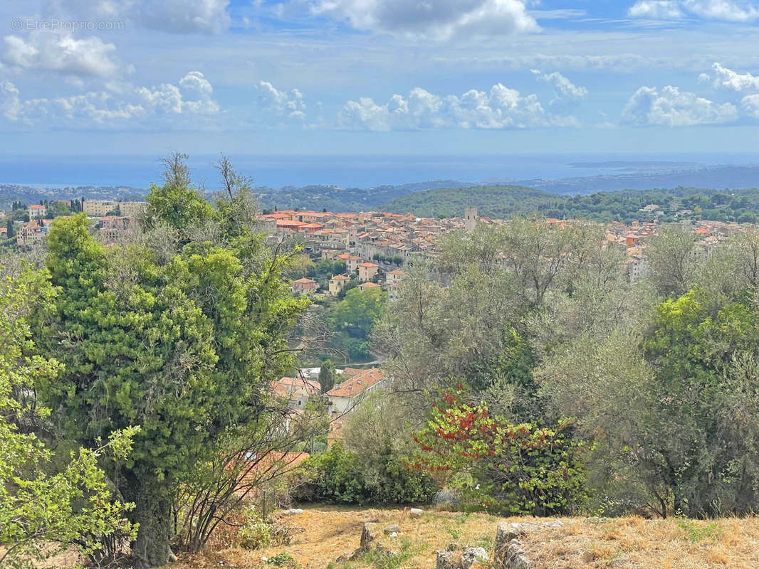
{"type": "Polygon", "coordinates": [[[632,222],[653,218],[641,212],[648,204],[660,206],[662,221],[699,216],[702,219],[755,223],[759,219],[759,190],[712,190],[676,187],[669,190],[621,190],[587,196],[564,196],[523,186],[477,186],[427,190],[383,204],[382,209],[420,217],[462,215],[474,206],[480,216],[509,218],[543,215],[553,218],[632,222]]]}

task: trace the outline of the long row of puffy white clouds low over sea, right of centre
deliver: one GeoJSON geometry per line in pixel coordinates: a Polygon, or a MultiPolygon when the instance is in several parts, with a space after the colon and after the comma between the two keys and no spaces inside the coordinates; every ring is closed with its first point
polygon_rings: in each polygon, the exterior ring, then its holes
{"type": "Polygon", "coordinates": [[[537,96],[522,96],[518,90],[498,83],[490,93],[473,89],[460,97],[438,96],[416,87],[406,97],[393,95],[385,105],[362,97],[343,106],[338,124],[359,130],[505,129],[575,126],[578,121],[550,115],[537,96]]]}

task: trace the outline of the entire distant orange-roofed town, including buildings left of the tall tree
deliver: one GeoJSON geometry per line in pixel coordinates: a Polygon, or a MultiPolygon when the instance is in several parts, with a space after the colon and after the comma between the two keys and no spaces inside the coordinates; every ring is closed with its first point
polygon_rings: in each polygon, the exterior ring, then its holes
{"type": "MultiPolygon", "coordinates": [[[[0,212],[5,218],[0,225],[0,238],[15,237],[19,247],[36,247],[44,243],[49,223],[55,217],[85,212],[93,220],[99,240],[119,243],[134,234],[147,203],[117,200],[70,200],[32,204],[14,204],[10,212],[0,212]]],[[[641,208],[641,218],[659,206],[648,204],[641,208]]],[[[298,211],[294,209],[262,213],[258,217],[263,231],[270,239],[292,237],[314,258],[345,264],[345,273],[327,280],[295,279],[294,294],[326,294],[337,296],[351,285],[361,288],[379,286],[392,299],[405,274],[402,266],[413,259],[435,256],[440,237],[452,231],[473,231],[477,223],[504,225],[508,219],[479,217],[477,209],[465,209],[462,217],[419,218],[389,212],[334,213],[298,211]],[[357,282],[351,282],[351,281],[357,282]]],[[[561,227],[571,220],[546,218],[545,223],[561,227]]],[[[646,274],[645,244],[657,233],[660,224],[653,222],[611,222],[605,243],[626,250],[631,281],[646,274]]],[[[738,222],[683,221],[683,231],[697,237],[696,250],[708,256],[726,237],[742,227],[738,222]]]]}

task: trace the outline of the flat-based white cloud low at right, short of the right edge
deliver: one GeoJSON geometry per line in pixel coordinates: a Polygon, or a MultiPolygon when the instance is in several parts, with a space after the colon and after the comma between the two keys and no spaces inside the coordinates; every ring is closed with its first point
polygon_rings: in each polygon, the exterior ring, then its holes
{"type": "Polygon", "coordinates": [[[646,86],[638,89],[625,105],[620,120],[623,124],[684,127],[737,119],[738,109],[732,103],[716,103],[670,85],[661,90],[646,86]]]}

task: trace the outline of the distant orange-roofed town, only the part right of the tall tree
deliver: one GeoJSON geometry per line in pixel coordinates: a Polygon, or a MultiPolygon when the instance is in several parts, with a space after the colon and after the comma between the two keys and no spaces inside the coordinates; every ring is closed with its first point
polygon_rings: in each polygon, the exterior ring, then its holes
{"type": "MultiPolygon", "coordinates": [[[[641,209],[649,212],[650,204],[641,209]]],[[[478,223],[505,225],[508,219],[478,217],[477,209],[468,208],[463,217],[418,218],[389,212],[333,213],[285,210],[260,215],[270,238],[295,237],[304,250],[321,259],[345,263],[345,275],[334,275],[328,282],[300,278],[293,283],[296,294],[336,295],[353,278],[363,288],[379,285],[395,297],[404,272],[401,267],[414,259],[435,256],[440,237],[452,231],[474,231],[478,223]]],[[[546,224],[561,228],[572,220],[546,218],[546,224]]],[[[745,224],[737,222],[680,222],[682,231],[697,237],[696,250],[708,256],[727,237],[745,224]]],[[[657,222],[620,222],[608,224],[604,238],[607,245],[619,247],[628,255],[631,281],[646,274],[645,246],[648,237],[657,233],[657,222]]]]}

